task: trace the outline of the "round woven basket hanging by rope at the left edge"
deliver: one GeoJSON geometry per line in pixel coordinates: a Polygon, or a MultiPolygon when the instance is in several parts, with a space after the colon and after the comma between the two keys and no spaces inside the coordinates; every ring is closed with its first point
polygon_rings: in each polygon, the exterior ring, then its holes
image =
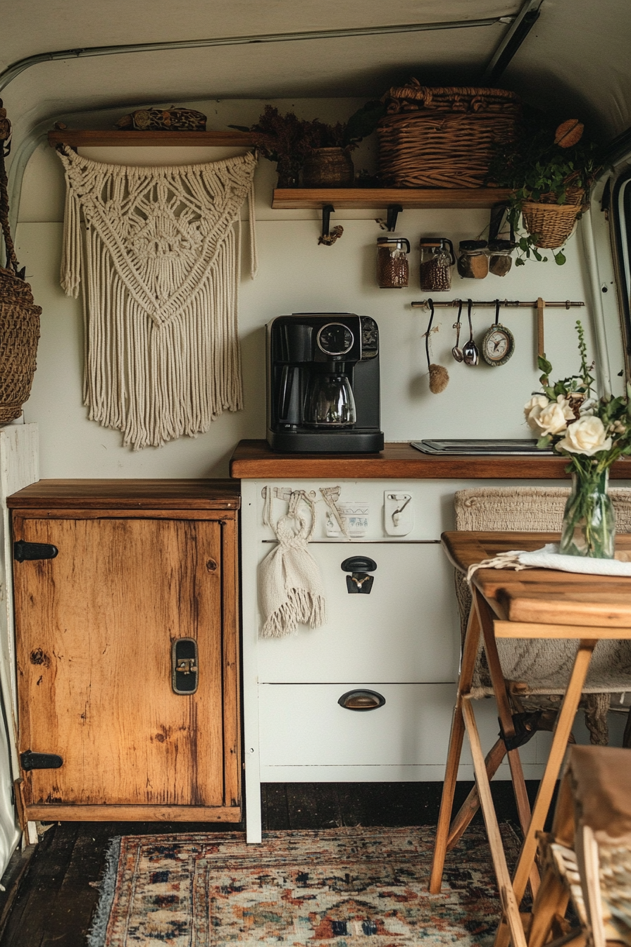
{"type": "Polygon", "coordinates": [[[42,309],[33,302],[24,270],[15,257],[9,232],[9,197],[5,156],[10,124],[0,99],[0,225],[7,248],[7,268],[0,266],[0,424],[19,418],[35,374],[42,309]]]}

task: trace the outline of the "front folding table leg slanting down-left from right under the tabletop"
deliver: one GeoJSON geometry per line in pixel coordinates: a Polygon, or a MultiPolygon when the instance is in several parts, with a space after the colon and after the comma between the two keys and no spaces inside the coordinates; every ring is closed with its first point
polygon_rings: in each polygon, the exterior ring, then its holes
{"type": "MultiPolygon", "coordinates": [[[[554,735],[552,737],[550,755],[546,763],[543,778],[539,783],[539,790],[535,799],[535,808],[533,809],[533,817],[531,818],[529,829],[524,838],[524,844],[519,853],[519,860],[513,878],[513,889],[515,891],[517,904],[521,903],[531,868],[535,862],[537,845],[536,833],[543,829],[546,816],[550,810],[554,785],[558,778],[561,764],[563,763],[568,741],[570,740],[571,727],[574,723],[574,717],[576,716],[576,710],[587,677],[587,670],[589,669],[589,662],[591,661],[591,655],[596,644],[597,642],[591,638],[581,638],[579,641],[574,666],[570,674],[570,681],[559,715],[556,718],[556,724],[554,724],[554,735]]],[[[510,936],[511,932],[507,929],[506,924],[502,922],[495,938],[495,947],[506,947],[510,936]]]]}

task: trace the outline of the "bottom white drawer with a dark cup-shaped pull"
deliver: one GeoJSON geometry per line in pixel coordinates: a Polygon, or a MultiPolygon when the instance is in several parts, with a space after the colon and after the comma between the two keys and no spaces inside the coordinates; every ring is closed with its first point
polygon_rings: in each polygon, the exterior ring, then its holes
{"type": "Polygon", "coordinates": [[[262,685],[263,766],[444,765],[453,684],[262,685]],[[338,704],[348,690],[376,690],[376,710],[338,704]]]}

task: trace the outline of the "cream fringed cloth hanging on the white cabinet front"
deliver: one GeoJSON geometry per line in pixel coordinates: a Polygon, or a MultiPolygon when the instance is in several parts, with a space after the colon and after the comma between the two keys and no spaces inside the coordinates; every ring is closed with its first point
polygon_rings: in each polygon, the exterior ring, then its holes
{"type": "Polygon", "coordinates": [[[264,623],[261,637],[293,634],[296,625],[317,628],[326,621],[320,568],[307,550],[316,522],[315,504],[305,491],[291,492],[289,509],[274,525],[272,488],[266,488],[263,520],[272,527],[278,545],[258,567],[258,589],[264,623]],[[309,517],[301,504],[307,506],[309,517]]]}

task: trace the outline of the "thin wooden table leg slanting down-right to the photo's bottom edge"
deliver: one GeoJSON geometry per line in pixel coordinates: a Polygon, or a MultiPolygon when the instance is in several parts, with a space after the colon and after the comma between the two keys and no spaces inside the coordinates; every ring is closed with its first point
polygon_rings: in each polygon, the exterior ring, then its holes
{"type": "Polygon", "coordinates": [[[521,918],[519,917],[519,907],[513,892],[508,866],[506,865],[506,856],[504,855],[498,816],[496,815],[495,806],[493,805],[491,784],[486,775],[486,766],[484,765],[478,726],[471,701],[466,697],[463,699],[463,716],[466,726],[466,735],[469,738],[471,747],[471,756],[473,757],[473,768],[478,784],[478,793],[480,795],[480,805],[482,807],[482,815],[484,816],[488,844],[491,849],[493,867],[495,868],[495,875],[500,889],[501,906],[508,924],[513,947],[526,947],[526,937],[524,935],[521,918]]]}

